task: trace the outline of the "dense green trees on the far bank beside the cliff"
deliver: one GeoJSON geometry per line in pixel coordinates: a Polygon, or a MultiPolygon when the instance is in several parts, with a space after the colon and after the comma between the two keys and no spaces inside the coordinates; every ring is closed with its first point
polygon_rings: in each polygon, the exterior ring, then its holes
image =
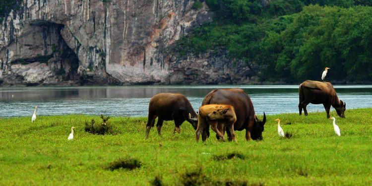
{"type": "Polygon", "coordinates": [[[372,80],[372,0],[206,0],[212,23],[178,42],[181,55],[228,50],[262,81],[372,80]],[[315,5],[313,5],[315,4],[315,5]]]}

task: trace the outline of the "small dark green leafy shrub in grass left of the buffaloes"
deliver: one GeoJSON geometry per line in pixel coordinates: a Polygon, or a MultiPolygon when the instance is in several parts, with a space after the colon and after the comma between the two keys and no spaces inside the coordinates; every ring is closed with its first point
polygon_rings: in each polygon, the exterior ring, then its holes
{"type": "Polygon", "coordinates": [[[101,119],[103,121],[102,124],[96,124],[96,121],[92,119],[90,121],[90,124],[88,122],[85,122],[85,131],[93,134],[100,134],[100,135],[105,135],[105,134],[112,134],[113,133],[113,127],[111,124],[108,123],[110,117],[105,117],[101,115],[101,119]]]}

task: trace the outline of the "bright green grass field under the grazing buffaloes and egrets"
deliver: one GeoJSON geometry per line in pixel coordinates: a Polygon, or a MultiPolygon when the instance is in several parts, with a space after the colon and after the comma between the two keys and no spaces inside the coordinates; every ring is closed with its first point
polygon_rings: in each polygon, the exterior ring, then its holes
{"type": "Polygon", "coordinates": [[[196,143],[186,122],[180,134],[165,122],[162,137],[152,128],[145,139],[146,118],[112,118],[111,135],[84,131],[98,116],[0,119],[0,185],[150,185],[155,177],[164,185],[372,185],[371,114],[347,110],[341,119],[332,112],[340,137],[325,112],[268,116],[262,141],[247,142],[237,131],[238,144],[217,141],[212,130],[206,143],[196,143]],[[292,138],[279,138],[276,118],[292,138]],[[75,137],[67,141],[71,126],[75,137]],[[245,158],[215,158],[233,152],[245,158]],[[107,168],[121,158],[142,166],[107,168]]]}

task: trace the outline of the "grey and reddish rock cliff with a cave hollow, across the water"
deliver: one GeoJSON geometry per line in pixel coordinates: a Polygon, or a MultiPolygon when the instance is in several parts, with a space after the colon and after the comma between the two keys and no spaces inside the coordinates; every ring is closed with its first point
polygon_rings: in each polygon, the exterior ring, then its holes
{"type": "Polygon", "coordinates": [[[193,0],[23,0],[0,25],[0,84],[244,83],[223,51],[166,51],[213,14],[193,0]],[[221,74],[221,72],[223,72],[221,74]]]}

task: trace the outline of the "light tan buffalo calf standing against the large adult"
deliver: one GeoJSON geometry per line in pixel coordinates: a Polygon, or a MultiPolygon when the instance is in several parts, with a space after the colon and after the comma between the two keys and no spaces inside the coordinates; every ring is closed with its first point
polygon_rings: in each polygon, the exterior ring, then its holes
{"type": "MultiPolygon", "coordinates": [[[[191,117],[191,116],[190,116],[191,117]]],[[[222,127],[228,127],[232,138],[235,142],[237,142],[235,131],[234,131],[234,123],[237,121],[237,117],[235,115],[234,107],[231,105],[203,105],[199,108],[199,113],[197,117],[197,129],[195,132],[196,141],[199,141],[199,136],[201,131],[207,124],[210,124],[213,131],[216,132],[218,136],[225,141],[225,137],[221,131],[217,129],[217,124],[221,125],[222,127]]]]}

